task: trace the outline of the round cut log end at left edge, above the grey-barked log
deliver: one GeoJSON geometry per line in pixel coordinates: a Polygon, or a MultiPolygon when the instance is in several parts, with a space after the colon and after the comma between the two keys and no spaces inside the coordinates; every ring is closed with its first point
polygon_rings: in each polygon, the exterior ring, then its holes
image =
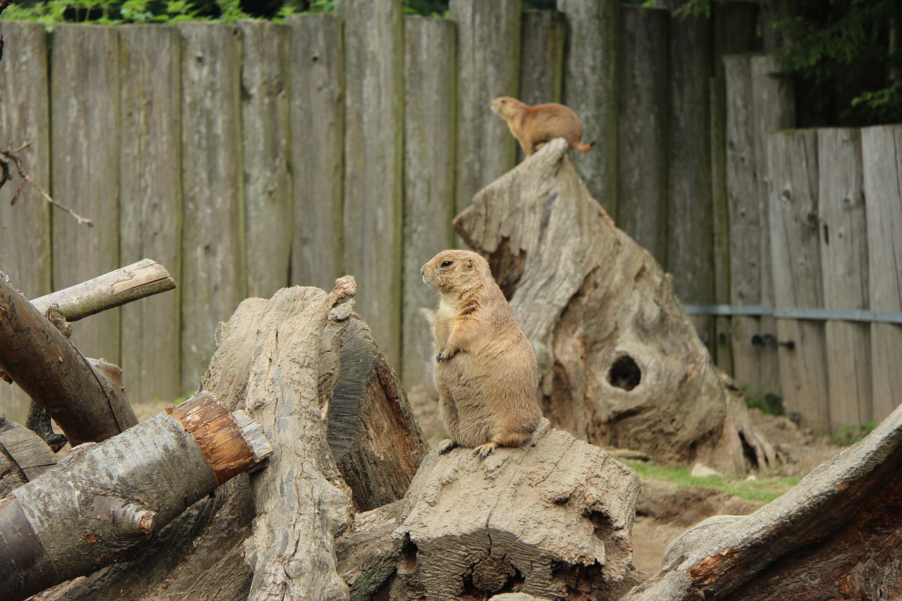
{"type": "Polygon", "coordinates": [[[0,497],[55,465],[56,457],[37,434],[0,414],[0,497]]]}

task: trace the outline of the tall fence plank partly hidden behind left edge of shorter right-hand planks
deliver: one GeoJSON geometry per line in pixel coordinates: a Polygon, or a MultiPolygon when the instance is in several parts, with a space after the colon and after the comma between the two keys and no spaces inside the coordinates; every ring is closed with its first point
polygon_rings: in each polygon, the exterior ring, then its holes
{"type": "MultiPolygon", "coordinates": [[[[779,69],[779,59],[776,55],[751,57],[750,78],[754,115],[752,139],[755,146],[755,164],[758,166],[759,180],[760,301],[766,305],[774,304],[774,291],[770,259],[770,174],[765,140],[769,132],[788,129],[796,125],[796,98],[792,79],[778,76],[779,69]]],[[[760,320],[760,328],[763,334],[773,336],[776,333],[773,317],[763,316],[760,320]]],[[[771,340],[772,338],[766,339],[771,340]]],[[[760,378],[761,391],[765,396],[780,394],[780,371],[776,344],[769,343],[760,347],[760,378]]]]}

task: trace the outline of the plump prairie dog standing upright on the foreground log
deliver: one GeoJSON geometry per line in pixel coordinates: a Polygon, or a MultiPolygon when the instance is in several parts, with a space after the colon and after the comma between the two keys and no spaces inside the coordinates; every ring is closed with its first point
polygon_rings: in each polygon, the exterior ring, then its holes
{"type": "Polygon", "coordinates": [[[446,250],[421,270],[439,293],[432,377],[450,442],[485,458],[520,447],[538,427],[538,365],[520,324],[479,254],[446,250]]]}

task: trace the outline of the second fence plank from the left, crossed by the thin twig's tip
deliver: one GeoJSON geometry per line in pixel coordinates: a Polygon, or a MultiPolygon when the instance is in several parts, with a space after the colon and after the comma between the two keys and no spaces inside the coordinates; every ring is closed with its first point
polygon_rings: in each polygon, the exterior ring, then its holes
{"type": "MultiPolygon", "coordinates": [[[[53,215],[53,288],[113,271],[119,261],[119,32],[100,25],[59,25],[51,35],[52,194],[90,218],[85,227],[53,215]]],[[[119,364],[120,310],[75,326],[86,356],[119,364]]]]}

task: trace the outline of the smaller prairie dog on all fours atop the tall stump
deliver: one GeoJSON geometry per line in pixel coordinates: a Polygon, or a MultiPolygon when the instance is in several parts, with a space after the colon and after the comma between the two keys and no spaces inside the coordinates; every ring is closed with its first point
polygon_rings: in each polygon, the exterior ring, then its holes
{"type": "Polygon", "coordinates": [[[535,153],[539,144],[555,138],[564,138],[580,153],[588,153],[594,146],[594,142],[582,143],[583,122],[567,106],[554,102],[529,106],[517,98],[502,96],[492,100],[492,112],[507,122],[527,156],[535,153]]]}

